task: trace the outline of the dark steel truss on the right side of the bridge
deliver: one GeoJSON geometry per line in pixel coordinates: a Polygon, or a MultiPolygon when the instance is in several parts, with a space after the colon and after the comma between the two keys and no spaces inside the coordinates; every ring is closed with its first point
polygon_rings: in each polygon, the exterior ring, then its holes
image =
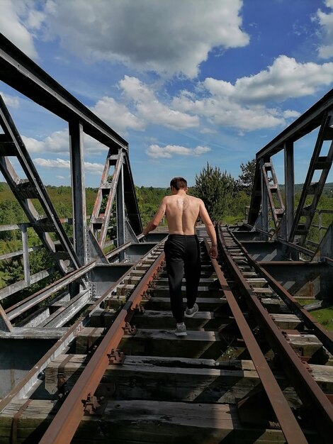
{"type": "MultiPolygon", "coordinates": [[[[298,252],[315,257],[324,241],[308,239],[318,202],[333,160],[333,89],[300,116],[286,130],[256,154],[256,172],[247,223],[261,231],[264,238],[276,238],[288,246],[296,258],[298,252]],[[300,201],[295,209],[294,143],[319,128],[315,148],[307,170],[300,201]],[[324,153],[324,142],[330,145],[324,153]],[[283,150],[285,159],[285,202],[271,157],[283,150]],[[319,179],[315,179],[318,172],[319,179]],[[271,213],[271,216],[269,216],[271,213]],[[271,225],[270,225],[271,219],[271,225]],[[312,249],[309,249],[309,245],[312,249]]],[[[329,228],[329,227],[327,227],[329,228]]],[[[327,235],[331,235],[330,228],[327,235]]],[[[327,249],[325,250],[327,254],[327,249]]],[[[329,252],[332,257],[333,252],[329,252]]]]}

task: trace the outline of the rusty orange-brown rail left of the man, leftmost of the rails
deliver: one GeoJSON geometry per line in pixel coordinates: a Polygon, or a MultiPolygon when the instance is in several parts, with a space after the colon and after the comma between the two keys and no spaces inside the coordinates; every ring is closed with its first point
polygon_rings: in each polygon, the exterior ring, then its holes
{"type": "Polygon", "coordinates": [[[94,397],[98,384],[101,382],[106,368],[110,363],[108,355],[111,350],[118,347],[120,340],[124,335],[125,323],[131,318],[137,304],[140,304],[142,295],[148,289],[149,282],[152,281],[154,273],[157,271],[161,262],[164,260],[162,252],[152,267],[142,278],[130,298],[118,313],[111,328],[98,345],[94,355],[89,360],[86,368],[81,373],[74,388],[68,394],[60,410],[53,418],[52,423],[40,440],[40,444],[69,444],[79,427],[82,416],[84,415],[84,401],[89,401],[94,397]]]}

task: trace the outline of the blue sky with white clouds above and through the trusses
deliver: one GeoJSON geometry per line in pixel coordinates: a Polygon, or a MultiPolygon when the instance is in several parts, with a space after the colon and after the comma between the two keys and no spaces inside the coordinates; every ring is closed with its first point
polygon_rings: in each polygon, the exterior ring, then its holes
{"type": "MultiPolygon", "coordinates": [[[[237,178],[333,87],[333,0],[0,0],[0,30],[128,141],[138,186],[193,185],[207,162],[237,178]]],[[[67,123],[0,94],[43,182],[69,185],[67,123]]],[[[295,145],[297,183],[315,136],[295,145]]],[[[84,146],[96,187],[106,148],[84,146]]]]}

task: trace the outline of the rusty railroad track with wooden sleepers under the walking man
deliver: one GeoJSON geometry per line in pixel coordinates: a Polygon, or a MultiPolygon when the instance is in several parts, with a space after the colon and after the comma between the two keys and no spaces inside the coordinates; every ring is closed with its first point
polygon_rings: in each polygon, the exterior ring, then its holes
{"type": "Polygon", "coordinates": [[[225,227],[174,335],[163,242],[0,401],[0,443],[328,443],[332,337],[225,227]],[[38,377],[36,377],[36,374],[38,377]]]}

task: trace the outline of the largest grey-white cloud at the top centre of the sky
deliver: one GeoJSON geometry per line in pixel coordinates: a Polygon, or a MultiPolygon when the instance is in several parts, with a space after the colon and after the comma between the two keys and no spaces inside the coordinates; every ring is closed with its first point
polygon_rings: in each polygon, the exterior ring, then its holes
{"type": "MultiPolygon", "coordinates": [[[[214,48],[249,43],[242,30],[242,4],[242,0],[48,0],[44,33],[76,56],[196,77],[214,48]]],[[[38,11],[40,3],[35,5],[38,11]]],[[[29,17],[32,26],[40,26],[42,19],[36,13],[29,17]]]]}

